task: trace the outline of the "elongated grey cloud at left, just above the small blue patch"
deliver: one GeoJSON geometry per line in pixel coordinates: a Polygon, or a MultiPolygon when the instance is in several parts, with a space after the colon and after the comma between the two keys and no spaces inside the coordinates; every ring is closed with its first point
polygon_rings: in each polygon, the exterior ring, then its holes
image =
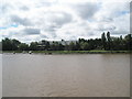
{"type": "Polygon", "coordinates": [[[11,19],[11,22],[14,22],[16,24],[21,24],[21,25],[25,25],[25,26],[33,25],[31,23],[31,21],[26,18],[20,18],[18,15],[11,15],[10,19],[11,19]]]}

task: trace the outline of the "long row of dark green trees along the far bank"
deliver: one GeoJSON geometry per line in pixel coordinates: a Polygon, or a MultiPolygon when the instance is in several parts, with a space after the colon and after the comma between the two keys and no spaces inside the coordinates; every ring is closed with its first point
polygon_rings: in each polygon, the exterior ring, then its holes
{"type": "Polygon", "coordinates": [[[100,38],[78,38],[69,43],[64,40],[61,42],[42,40],[40,42],[31,42],[30,44],[6,37],[0,44],[2,44],[2,51],[131,51],[132,34],[128,34],[124,37],[116,37],[111,36],[110,32],[107,32],[102,33],[100,38]]]}

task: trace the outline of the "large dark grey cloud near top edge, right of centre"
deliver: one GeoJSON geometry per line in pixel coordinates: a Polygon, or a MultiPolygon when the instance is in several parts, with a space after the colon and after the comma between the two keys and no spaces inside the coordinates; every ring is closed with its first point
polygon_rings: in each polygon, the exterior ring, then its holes
{"type": "Polygon", "coordinates": [[[99,6],[97,3],[87,2],[74,6],[74,9],[82,19],[88,19],[94,16],[99,10],[99,6]]]}

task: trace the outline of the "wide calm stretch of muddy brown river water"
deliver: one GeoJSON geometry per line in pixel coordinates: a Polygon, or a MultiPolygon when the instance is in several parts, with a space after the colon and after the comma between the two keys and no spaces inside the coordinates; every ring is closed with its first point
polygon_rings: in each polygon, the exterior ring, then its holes
{"type": "Polygon", "coordinates": [[[3,54],[3,97],[129,97],[129,54],[3,54]]]}

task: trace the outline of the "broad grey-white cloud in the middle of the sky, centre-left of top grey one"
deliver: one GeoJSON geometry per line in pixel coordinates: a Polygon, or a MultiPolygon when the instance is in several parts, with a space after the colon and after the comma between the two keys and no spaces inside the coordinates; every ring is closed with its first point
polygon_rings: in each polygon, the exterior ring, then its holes
{"type": "Polygon", "coordinates": [[[73,16],[66,12],[50,12],[47,14],[47,19],[44,31],[46,32],[56,32],[57,29],[61,29],[63,25],[72,22],[73,16]]]}

